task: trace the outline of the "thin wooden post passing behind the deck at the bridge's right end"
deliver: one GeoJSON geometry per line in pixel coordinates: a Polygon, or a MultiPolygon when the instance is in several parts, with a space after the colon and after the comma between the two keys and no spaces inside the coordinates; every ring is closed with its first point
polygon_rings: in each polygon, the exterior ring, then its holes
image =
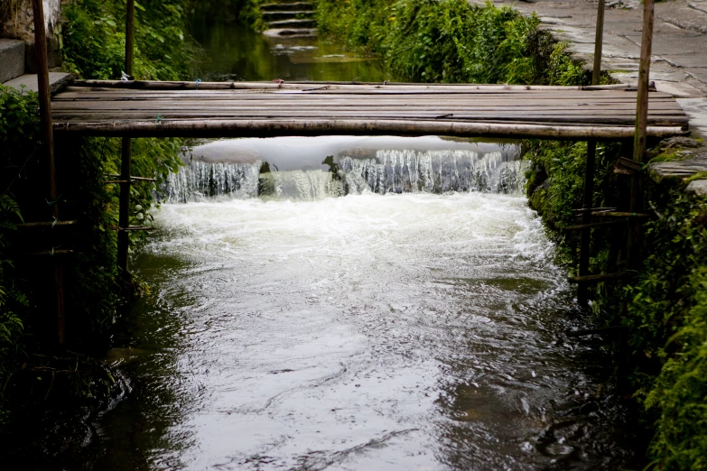
{"type": "MultiPolygon", "coordinates": [[[[591,85],[599,85],[601,79],[601,49],[604,42],[604,7],[606,0],[599,0],[597,9],[597,29],[594,34],[594,69],[591,71],[591,85]]],[[[581,224],[591,223],[591,211],[594,203],[594,166],[597,155],[597,142],[587,142],[587,166],[584,170],[584,195],[582,199],[581,224]]],[[[591,228],[581,229],[580,238],[580,276],[589,274],[591,228]]],[[[577,300],[580,304],[587,303],[587,285],[580,283],[577,287],[577,300]]]]}

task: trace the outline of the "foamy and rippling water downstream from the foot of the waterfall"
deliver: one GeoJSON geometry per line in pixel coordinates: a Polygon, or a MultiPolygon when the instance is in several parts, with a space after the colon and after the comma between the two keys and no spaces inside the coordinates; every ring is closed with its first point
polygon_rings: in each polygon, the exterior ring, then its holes
{"type": "Polygon", "coordinates": [[[232,199],[164,205],[156,221],[137,271],[169,315],[144,335],[172,343],[142,360],[132,406],[170,412],[151,463],[594,469],[623,457],[601,439],[615,414],[582,412],[600,402],[591,348],[557,341],[571,294],[525,199],[232,199]]]}

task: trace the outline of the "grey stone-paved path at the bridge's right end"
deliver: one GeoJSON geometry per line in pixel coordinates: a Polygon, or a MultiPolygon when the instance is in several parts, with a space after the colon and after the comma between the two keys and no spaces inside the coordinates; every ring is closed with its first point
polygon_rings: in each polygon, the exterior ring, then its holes
{"type": "MultiPolygon", "coordinates": [[[[483,4],[485,0],[470,0],[483,4]]],[[[538,0],[510,5],[524,14],[535,12],[542,27],[567,42],[572,56],[590,68],[594,60],[594,31],[598,2],[595,0],[538,0]]],[[[601,69],[624,83],[638,78],[638,59],[643,29],[643,5],[639,0],[607,0],[601,69]]],[[[667,0],[656,4],[650,79],[656,88],[673,94],[690,117],[693,136],[707,143],[707,0],[667,0]]],[[[707,171],[707,148],[686,151],[693,168],[707,171]]],[[[674,166],[674,165],[673,165],[674,166]]],[[[678,164],[679,166],[679,164],[678,164]]],[[[665,169],[667,171],[667,169],[665,169]]],[[[704,191],[707,195],[707,190],[704,191]]]]}

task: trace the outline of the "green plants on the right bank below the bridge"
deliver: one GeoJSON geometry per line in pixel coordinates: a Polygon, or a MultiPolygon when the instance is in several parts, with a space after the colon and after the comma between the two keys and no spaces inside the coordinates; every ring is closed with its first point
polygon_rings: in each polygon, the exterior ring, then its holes
{"type": "MultiPolygon", "coordinates": [[[[572,208],[581,207],[585,149],[584,143],[530,145],[528,198],[554,230],[577,222],[572,208]]],[[[628,201],[628,179],[612,171],[619,149],[618,144],[598,149],[598,207],[628,201]]],[[[659,153],[656,162],[676,155],[659,153]]],[[[644,226],[645,259],[635,279],[596,287],[594,321],[628,328],[626,344],[617,344],[627,356],[625,365],[617,365],[617,382],[627,382],[644,411],[644,427],[654,435],[651,467],[707,469],[707,201],[685,194],[684,182],[656,184],[645,174],[646,205],[656,215],[644,226]]],[[[626,268],[627,230],[626,225],[592,230],[591,272],[626,268]]],[[[557,240],[565,260],[577,266],[579,236],[557,240]]]]}

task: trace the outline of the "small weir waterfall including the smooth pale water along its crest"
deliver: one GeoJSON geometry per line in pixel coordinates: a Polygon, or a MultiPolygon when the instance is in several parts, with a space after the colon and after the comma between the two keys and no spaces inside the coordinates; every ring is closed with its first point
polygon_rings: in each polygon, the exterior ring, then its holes
{"type": "Polygon", "coordinates": [[[294,137],[201,145],[185,152],[186,164],[170,175],[163,196],[183,203],[213,197],[322,199],[366,192],[523,193],[526,162],[516,145],[429,137],[339,140],[294,137]],[[394,144],[409,147],[386,148],[394,144]],[[441,148],[430,149],[433,145],[441,148]]]}

